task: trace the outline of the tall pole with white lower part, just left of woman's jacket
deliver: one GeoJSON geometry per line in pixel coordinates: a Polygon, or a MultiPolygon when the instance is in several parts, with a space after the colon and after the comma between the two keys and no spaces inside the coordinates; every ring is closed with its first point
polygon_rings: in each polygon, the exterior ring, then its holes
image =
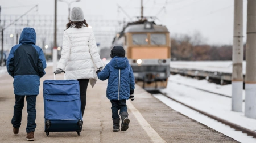
{"type": "MultiPolygon", "coordinates": [[[[54,43],[52,51],[52,70],[55,71],[57,67],[57,0],[55,0],[55,14],[54,14],[54,43]]],[[[64,70],[64,69],[62,69],[64,70]]]]}

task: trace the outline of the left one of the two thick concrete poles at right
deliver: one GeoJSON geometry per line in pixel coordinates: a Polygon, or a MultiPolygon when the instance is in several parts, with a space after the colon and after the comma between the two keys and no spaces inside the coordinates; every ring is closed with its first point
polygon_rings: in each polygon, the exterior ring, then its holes
{"type": "Polygon", "coordinates": [[[243,0],[234,0],[232,111],[242,112],[243,91],[243,0]]]}

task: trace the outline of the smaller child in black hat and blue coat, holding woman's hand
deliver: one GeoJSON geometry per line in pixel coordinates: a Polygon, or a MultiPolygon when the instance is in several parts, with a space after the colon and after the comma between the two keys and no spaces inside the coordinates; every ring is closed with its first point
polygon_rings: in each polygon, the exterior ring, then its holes
{"type": "Polygon", "coordinates": [[[125,57],[125,50],[122,46],[114,46],[111,50],[110,57],[112,60],[106,64],[104,70],[97,71],[98,79],[108,80],[108,88],[106,91],[108,99],[112,104],[112,120],[113,131],[120,130],[121,115],[121,131],[126,131],[129,127],[130,119],[128,118],[126,100],[129,98],[134,100],[134,75],[133,69],[125,57]]]}

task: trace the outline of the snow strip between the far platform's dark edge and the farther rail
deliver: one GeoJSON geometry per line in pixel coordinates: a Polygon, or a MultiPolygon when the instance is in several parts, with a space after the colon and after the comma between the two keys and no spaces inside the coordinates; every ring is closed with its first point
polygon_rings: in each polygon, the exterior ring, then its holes
{"type": "MultiPolygon", "coordinates": [[[[209,92],[223,94],[225,96],[232,96],[232,85],[218,85],[215,83],[209,83],[207,80],[197,80],[192,78],[185,78],[181,75],[171,75],[168,79],[171,82],[175,82],[178,84],[192,86],[194,88],[207,90],[209,92]],[[205,86],[207,85],[207,86],[205,86]]],[[[243,90],[243,99],[245,99],[245,90],[243,90]]]]}

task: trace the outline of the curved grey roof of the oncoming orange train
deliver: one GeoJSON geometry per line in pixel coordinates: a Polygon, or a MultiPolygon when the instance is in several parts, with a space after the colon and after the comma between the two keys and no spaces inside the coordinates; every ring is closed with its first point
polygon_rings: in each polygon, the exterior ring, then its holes
{"type": "Polygon", "coordinates": [[[152,24],[151,29],[144,28],[144,24],[129,25],[125,28],[125,33],[127,32],[169,32],[168,29],[163,25],[152,24]]]}

